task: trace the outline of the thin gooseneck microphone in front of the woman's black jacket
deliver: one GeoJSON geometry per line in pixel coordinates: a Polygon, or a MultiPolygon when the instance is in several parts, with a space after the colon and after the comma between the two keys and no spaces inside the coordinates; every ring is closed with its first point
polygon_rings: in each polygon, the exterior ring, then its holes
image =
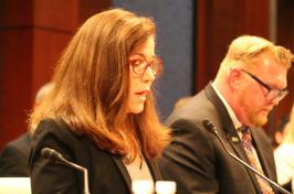
{"type": "Polygon", "coordinates": [[[84,175],[84,194],[90,194],[88,192],[88,180],[87,180],[87,169],[83,168],[81,165],[77,165],[73,162],[70,162],[69,160],[64,159],[62,154],[51,148],[43,148],[41,151],[41,155],[45,159],[55,162],[55,163],[62,163],[64,165],[67,165],[70,168],[76,169],[81,171],[84,175]]]}

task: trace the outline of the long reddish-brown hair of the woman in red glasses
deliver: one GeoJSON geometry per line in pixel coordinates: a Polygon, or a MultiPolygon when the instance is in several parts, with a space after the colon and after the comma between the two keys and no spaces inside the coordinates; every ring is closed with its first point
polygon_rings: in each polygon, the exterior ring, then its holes
{"type": "Polygon", "coordinates": [[[31,128],[45,118],[63,119],[98,148],[134,161],[159,155],[169,130],[158,119],[153,93],[138,115],[127,114],[128,55],[155,35],[151,19],[113,9],[90,18],[64,51],[53,76],[54,88],[30,118],[31,128]]]}

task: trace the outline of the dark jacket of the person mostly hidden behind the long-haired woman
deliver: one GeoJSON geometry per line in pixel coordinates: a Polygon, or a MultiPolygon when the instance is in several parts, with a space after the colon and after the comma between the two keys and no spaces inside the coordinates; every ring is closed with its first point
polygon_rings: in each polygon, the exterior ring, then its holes
{"type": "Polygon", "coordinates": [[[9,142],[0,155],[1,177],[25,177],[29,176],[29,153],[31,148],[31,136],[29,132],[9,142]]]}

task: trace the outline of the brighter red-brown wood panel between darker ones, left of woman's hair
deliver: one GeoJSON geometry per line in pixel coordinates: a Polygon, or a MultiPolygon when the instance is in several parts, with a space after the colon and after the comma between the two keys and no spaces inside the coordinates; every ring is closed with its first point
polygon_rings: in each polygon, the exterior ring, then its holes
{"type": "MultiPolygon", "coordinates": [[[[33,1],[32,94],[50,80],[54,64],[78,26],[78,0],[33,1]]],[[[32,99],[33,100],[33,99],[32,99]]]]}

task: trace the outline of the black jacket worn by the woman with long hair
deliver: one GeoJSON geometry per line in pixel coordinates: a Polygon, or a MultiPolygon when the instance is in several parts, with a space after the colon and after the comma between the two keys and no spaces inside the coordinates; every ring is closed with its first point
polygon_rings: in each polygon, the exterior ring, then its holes
{"type": "MultiPolygon", "coordinates": [[[[132,181],[119,155],[98,149],[86,136],[70,130],[64,121],[48,119],[40,122],[32,141],[30,172],[33,194],[81,194],[84,187],[81,172],[41,157],[44,147],[87,169],[91,194],[130,193],[132,181]]],[[[154,180],[161,180],[157,163],[146,161],[154,180]]]]}

